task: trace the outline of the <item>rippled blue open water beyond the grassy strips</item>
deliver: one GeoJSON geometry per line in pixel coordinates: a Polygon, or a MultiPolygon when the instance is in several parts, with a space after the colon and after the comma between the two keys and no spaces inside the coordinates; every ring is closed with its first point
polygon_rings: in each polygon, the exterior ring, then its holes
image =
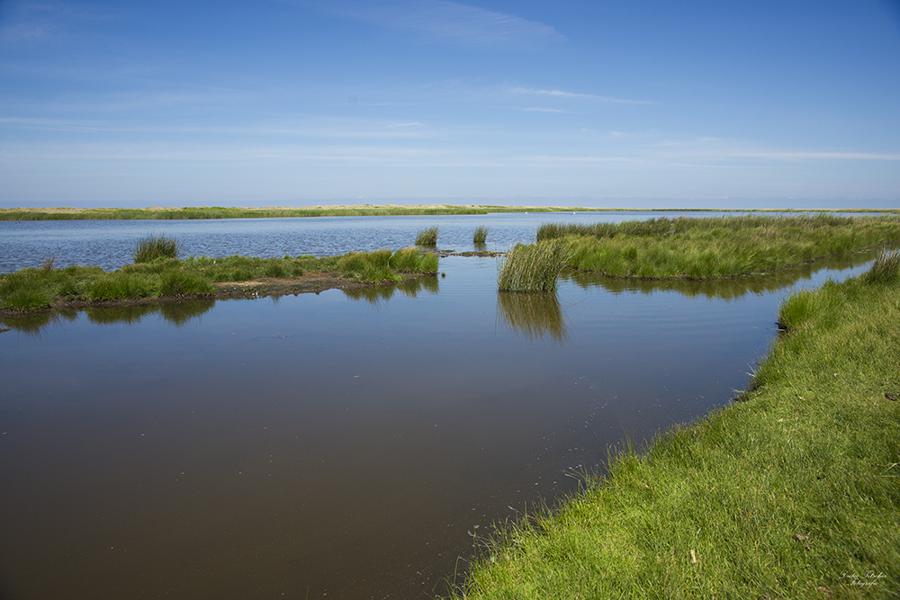
{"type": "MultiPolygon", "coordinates": [[[[131,262],[135,243],[148,234],[177,237],[187,255],[272,256],[346,254],[411,246],[419,229],[440,229],[438,246],[473,250],[472,235],[488,227],[487,249],[505,251],[535,241],[546,222],[621,222],[669,217],[680,212],[555,212],[409,217],[322,217],[311,219],[221,219],[133,221],[0,221],[0,273],[39,266],[48,254],[60,266],[90,264],[118,269],[131,262]]],[[[683,213],[718,216],[725,213],[683,213]]]]}

